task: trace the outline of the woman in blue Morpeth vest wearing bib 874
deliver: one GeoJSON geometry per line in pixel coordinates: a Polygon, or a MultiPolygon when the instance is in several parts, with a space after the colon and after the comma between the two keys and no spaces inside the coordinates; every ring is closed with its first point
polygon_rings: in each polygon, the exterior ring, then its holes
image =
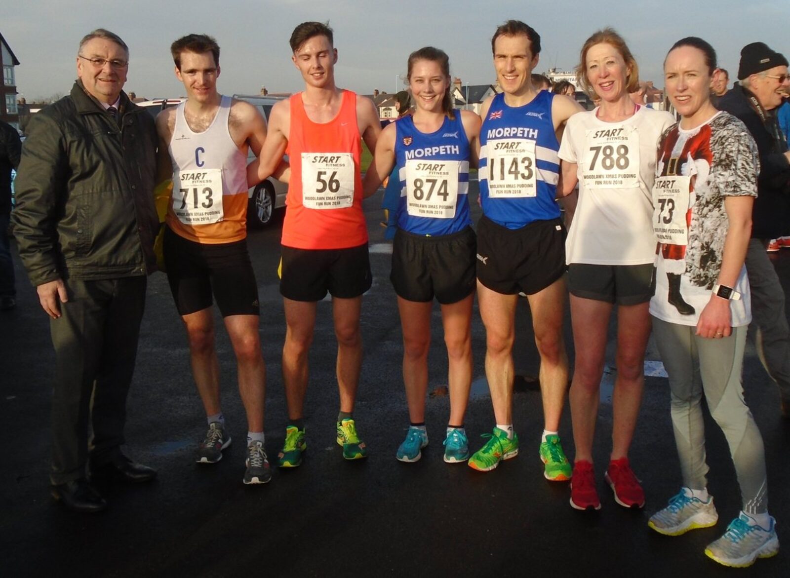
{"type": "Polygon", "coordinates": [[[397,167],[401,184],[395,220],[392,280],[403,328],[403,377],[411,426],[397,459],[416,462],[428,444],[425,395],[434,297],[442,308],[450,383],[448,463],[468,459],[464,415],[472,384],[472,300],[476,237],[467,199],[469,164],[480,118],[453,110],[450,60],[434,47],[408,58],[414,114],[399,118],[378,139],[365,177],[370,196],[397,167]]]}

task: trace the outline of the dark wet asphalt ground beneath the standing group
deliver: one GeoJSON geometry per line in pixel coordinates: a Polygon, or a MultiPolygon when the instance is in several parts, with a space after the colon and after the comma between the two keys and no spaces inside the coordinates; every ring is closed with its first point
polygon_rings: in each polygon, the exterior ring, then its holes
{"type": "MultiPolygon", "coordinates": [[[[474,189],[474,186],[472,187],[474,189]]],[[[769,509],[784,550],[751,569],[725,569],[703,554],[740,509],[724,437],[708,419],[709,490],[716,527],[668,538],[647,527],[681,483],[669,417],[668,382],[653,343],[650,377],[630,460],[647,494],[644,510],[615,504],[603,476],[611,448],[611,354],[596,431],[600,512],[570,508],[567,483],[547,482],[538,456],[543,429],[538,358],[529,306],[517,311],[514,425],[517,458],[480,473],[445,464],[442,441],[449,415],[446,352],[434,308],[423,459],[402,464],[397,446],[408,428],[401,380],[401,332],[389,283],[389,244],[379,220],[380,194],[366,201],[374,283],[363,300],[364,358],[355,408],[367,460],[347,462],[335,443],[336,343],[329,301],[318,306],[310,353],[303,465],[273,471],[265,486],[244,486],[246,422],[235,381],[235,359],[218,333],[224,414],[234,443],[219,464],[194,463],[205,433],[189,367],[186,336],[162,273],[149,279],[137,370],[129,400],[126,452],[156,467],[141,486],[106,488],[110,508],[98,515],[66,512],[49,495],[51,381],[54,354],[47,317],[17,260],[18,307],[0,313],[0,407],[5,432],[0,470],[2,576],[788,576],[790,575],[790,426],[779,411],[776,385],[747,347],[744,387],[766,445],[769,509]]],[[[477,211],[475,211],[477,214],[477,211]]],[[[267,366],[266,443],[269,456],[284,440],[286,408],[280,352],[284,314],[276,278],[280,227],[252,231],[258,276],[261,340],[267,366]]],[[[790,287],[790,250],[776,257],[790,287]]],[[[217,323],[221,325],[219,315],[217,323]]],[[[566,343],[573,342],[566,319],[566,343]]],[[[475,382],[466,416],[472,451],[494,425],[483,370],[485,332],[473,320],[475,382]]],[[[570,411],[560,430],[573,456],[570,411]]]]}

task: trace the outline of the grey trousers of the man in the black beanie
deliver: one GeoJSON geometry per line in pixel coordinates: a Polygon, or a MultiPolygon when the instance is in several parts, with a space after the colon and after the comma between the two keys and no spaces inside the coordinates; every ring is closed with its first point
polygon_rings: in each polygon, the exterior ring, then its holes
{"type": "Polygon", "coordinates": [[[749,241],[746,271],[751,286],[749,335],[754,336],[762,366],[779,385],[782,400],[790,401],[790,327],[784,313],[784,291],[760,239],[749,241]]]}

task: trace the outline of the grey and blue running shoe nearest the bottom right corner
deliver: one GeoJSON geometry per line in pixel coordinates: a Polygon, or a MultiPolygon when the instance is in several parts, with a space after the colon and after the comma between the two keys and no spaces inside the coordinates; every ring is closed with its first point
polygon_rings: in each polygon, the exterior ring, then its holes
{"type": "Polygon", "coordinates": [[[725,566],[746,568],[758,558],[779,554],[776,520],[772,517],[767,528],[751,522],[754,520],[741,512],[724,535],[705,548],[705,555],[725,566]]]}

